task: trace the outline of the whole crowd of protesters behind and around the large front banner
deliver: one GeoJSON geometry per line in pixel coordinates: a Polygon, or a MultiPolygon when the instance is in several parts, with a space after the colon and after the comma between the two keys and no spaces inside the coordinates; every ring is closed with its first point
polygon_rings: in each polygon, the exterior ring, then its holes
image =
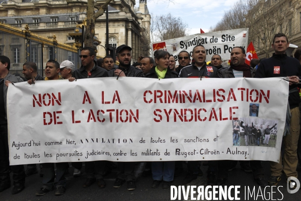
{"type": "MultiPolygon", "coordinates": [[[[177,55],[179,65],[176,66],[175,56],[164,50],[157,50],[153,57],[140,56],[138,62],[131,65],[131,47],[120,45],[116,48],[116,60],[118,65],[110,56],[95,60],[96,54],[93,48],[84,47],[81,50],[80,59],[81,67],[75,69],[71,61],[63,61],[59,64],[55,60],[49,60],[45,66],[45,78],[37,73],[37,65],[34,62],[26,62],[23,65],[24,77],[17,77],[10,74],[10,59],[6,56],[0,56],[0,192],[11,187],[10,171],[13,172],[12,194],[21,192],[25,187],[25,177],[38,173],[36,164],[28,164],[25,170],[24,165],[9,164],[9,147],[8,147],[8,122],[7,122],[7,90],[10,82],[28,81],[33,84],[35,80],[58,80],[68,79],[86,79],[93,77],[145,77],[145,78],[239,78],[239,77],[287,77],[289,82],[289,97],[288,111],[291,114],[289,130],[283,136],[282,146],[284,153],[279,154],[279,163],[270,162],[271,175],[268,179],[264,177],[261,161],[239,161],[241,168],[252,173],[254,180],[260,186],[277,185],[281,179],[281,174],[284,173],[286,178],[290,176],[297,177],[298,157],[297,147],[299,149],[300,141],[300,112],[299,102],[300,96],[298,88],[300,86],[299,79],[301,78],[301,49],[295,51],[295,58],[286,55],[288,48],[288,39],[284,34],[278,33],[274,36],[272,48],[274,53],[272,57],[264,60],[252,60],[251,66],[245,61],[246,52],[241,47],[234,47],[231,51],[231,62],[227,67],[223,67],[222,58],[215,54],[211,58],[211,63],[206,63],[206,49],[203,45],[197,45],[193,48],[192,55],[187,51],[182,51],[177,55]],[[279,67],[279,72],[275,73],[274,67],[279,67]],[[299,144],[298,144],[299,142],[299,144]],[[297,146],[299,145],[299,146],[297,146]]],[[[235,123],[236,130],[239,126],[248,127],[248,125],[235,123]]],[[[253,125],[252,125],[253,126],[253,125]]],[[[262,126],[262,125],[261,125],[262,126]]],[[[272,125],[265,125],[266,129],[257,127],[260,135],[269,135],[267,129],[272,125]]],[[[247,129],[245,130],[247,135],[247,129]]],[[[233,135],[237,136],[238,131],[233,135]]],[[[259,136],[260,137],[260,136],[259,136]]],[[[237,137],[236,137],[237,138],[237,137]]],[[[235,139],[236,139],[235,138],[235,139]]],[[[247,142],[247,138],[246,138],[247,142]]],[[[259,140],[256,141],[259,144],[259,140]]],[[[237,143],[234,141],[233,145],[237,143]]],[[[268,143],[268,141],[267,141],[268,143]]],[[[300,153],[300,150],[298,150],[300,153]]],[[[299,158],[300,159],[300,158],[299,158]]],[[[208,185],[224,185],[228,179],[228,171],[231,171],[236,166],[237,161],[218,160],[207,162],[207,184],[208,185]]],[[[182,183],[189,184],[192,180],[202,176],[203,172],[200,169],[200,161],[187,162],[187,174],[182,183]]],[[[81,176],[82,162],[73,162],[74,177],[81,176]]],[[[91,161],[85,162],[86,181],[83,187],[89,187],[94,182],[97,182],[99,188],[106,187],[104,176],[116,166],[110,161],[91,161]]],[[[113,184],[114,188],[120,187],[126,182],[128,190],[134,190],[135,162],[117,162],[117,178],[113,184]]],[[[68,163],[43,163],[40,164],[40,176],[42,179],[42,187],[37,190],[36,195],[44,195],[55,189],[55,195],[61,195],[66,189],[65,174],[68,172],[68,163]],[[56,166],[56,172],[55,172],[56,166]]],[[[143,175],[152,175],[152,187],[156,188],[162,183],[163,188],[169,188],[174,176],[183,172],[183,161],[158,161],[146,162],[143,175]]]]}

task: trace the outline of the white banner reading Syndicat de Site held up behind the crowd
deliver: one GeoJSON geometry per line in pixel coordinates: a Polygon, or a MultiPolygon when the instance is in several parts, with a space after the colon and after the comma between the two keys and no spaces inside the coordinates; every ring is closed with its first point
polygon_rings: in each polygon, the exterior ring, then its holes
{"type": "MultiPolygon", "coordinates": [[[[206,49],[206,61],[210,61],[214,54],[219,54],[222,60],[230,60],[230,53],[233,47],[240,46],[246,50],[248,47],[248,28],[233,29],[204,34],[194,34],[181,38],[175,38],[152,44],[152,51],[163,49],[175,56],[181,51],[187,51],[192,55],[192,50],[196,45],[203,45],[206,49]]],[[[178,62],[177,62],[178,63],[178,62]]]]}

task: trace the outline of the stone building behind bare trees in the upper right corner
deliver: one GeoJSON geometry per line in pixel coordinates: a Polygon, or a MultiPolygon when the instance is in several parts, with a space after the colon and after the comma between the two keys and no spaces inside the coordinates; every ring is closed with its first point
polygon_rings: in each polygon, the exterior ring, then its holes
{"type": "Polygon", "coordinates": [[[270,57],[276,33],[284,33],[289,43],[301,47],[300,0],[259,0],[257,6],[246,16],[250,40],[259,58],[270,57]]]}

